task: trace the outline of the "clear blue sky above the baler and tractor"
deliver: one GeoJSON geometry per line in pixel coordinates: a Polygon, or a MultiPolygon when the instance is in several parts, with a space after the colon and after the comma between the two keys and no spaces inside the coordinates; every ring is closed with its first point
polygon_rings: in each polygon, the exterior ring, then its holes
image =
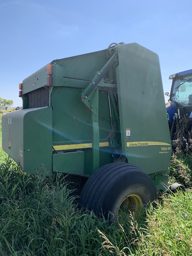
{"type": "Polygon", "coordinates": [[[158,54],[169,91],[169,75],[192,68],[191,9],[191,0],[0,0],[0,97],[22,105],[18,84],[31,73],[122,41],[158,54]]]}

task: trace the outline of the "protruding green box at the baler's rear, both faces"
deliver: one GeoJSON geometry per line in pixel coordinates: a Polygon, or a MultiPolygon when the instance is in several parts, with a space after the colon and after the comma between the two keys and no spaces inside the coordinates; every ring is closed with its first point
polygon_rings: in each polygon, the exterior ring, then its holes
{"type": "Polygon", "coordinates": [[[30,108],[2,118],[3,149],[28,174],[52,172],[52,107],[30,108]]]}

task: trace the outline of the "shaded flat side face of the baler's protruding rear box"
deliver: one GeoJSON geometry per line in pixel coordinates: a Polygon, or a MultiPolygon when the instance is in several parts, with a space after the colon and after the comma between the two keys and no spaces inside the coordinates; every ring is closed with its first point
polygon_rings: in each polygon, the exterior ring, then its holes
{"type": "Polygon", "coordinates": [[[24,117],[24,169],[52,173],[52,107],[32,108],[24,117]]]}

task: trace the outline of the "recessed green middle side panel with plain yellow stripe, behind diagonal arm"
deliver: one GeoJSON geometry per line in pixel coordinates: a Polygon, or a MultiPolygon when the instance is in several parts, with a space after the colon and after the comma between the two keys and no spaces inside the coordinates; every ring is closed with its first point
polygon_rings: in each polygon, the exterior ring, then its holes
{"type": "MultiPolygon", "coordinates": [[[[63,163],[66,163],[66,155],[75,158],[76,152],[83,151],[84,154],[79,155],[79,158],[80,156],[84,158],[84,171],[82,171],[82,168],[76,168],[76,170],[72,168],[69,172],[89,175],[93,172],[92,148],[94,133],[92,113],[82,103],[81,93],[95,73],[103,68],[107,60],[106,51],[104,50],[52,62],[54,81],[51,93],[51,105],[53,106],[53,148],[59,151],[60,154],[56,156],[57,153],[53,152],[53,171],[58,169],[65,171],[63,163]],[[68,153],[69,151],[72,153],[68,153]],[[60,159],[60,164],[56,162],[56,159],[60,159]],[[59,165],[61,168],[59,168],[59,165]]],[[[106,78],[108,78],[107,75],[106,78]]],[[[110,89],[109,86],[108,89],[110,89]]],[[[92,103],[91,100],[90,102],[92,103]]],[[[100,135],[99,165],[101,166],[113,161],[111,156],[113,149],[109,149],[111,121],[108,91],[106,88],[100,87],[98,90],[97,108],[100,135]]],[[[71,164],[73,165],[74,161],[71,164]]]]}

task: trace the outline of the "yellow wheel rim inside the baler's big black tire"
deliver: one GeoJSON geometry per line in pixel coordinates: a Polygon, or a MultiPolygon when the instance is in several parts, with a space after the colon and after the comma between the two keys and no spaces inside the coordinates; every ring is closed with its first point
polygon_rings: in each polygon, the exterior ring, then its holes
{"type": "Polygon", "coordinates": [[[121,213],[126,214],[136,214],[142,209],[143,201],[137,194],[130,194],[123,201],[121,201],[120,207],[118,209],[117,215],[121,213]]]}

